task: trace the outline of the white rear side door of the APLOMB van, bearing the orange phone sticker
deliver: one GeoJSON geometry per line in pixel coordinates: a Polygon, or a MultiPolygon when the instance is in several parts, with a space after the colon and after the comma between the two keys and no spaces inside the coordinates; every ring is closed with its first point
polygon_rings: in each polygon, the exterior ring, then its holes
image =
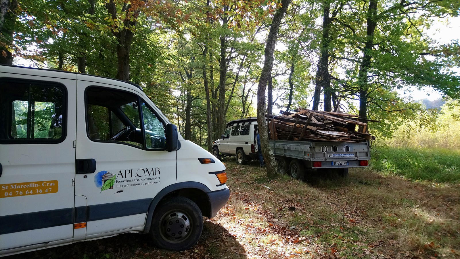
{"type": "Polygon", "coordinates": [[[0,254],[72,242],[75,87],[0,73],[0,254]]]}

